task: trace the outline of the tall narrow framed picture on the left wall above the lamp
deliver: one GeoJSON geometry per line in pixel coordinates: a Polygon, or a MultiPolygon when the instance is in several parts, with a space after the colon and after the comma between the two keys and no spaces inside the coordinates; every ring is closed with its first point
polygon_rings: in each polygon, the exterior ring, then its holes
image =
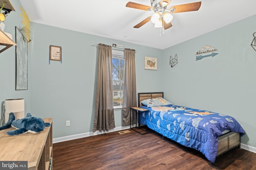
{"type": "Polygon", "coordinates": [[[28,90],[28,40],[15,27],[16,90],[28,90]]]}

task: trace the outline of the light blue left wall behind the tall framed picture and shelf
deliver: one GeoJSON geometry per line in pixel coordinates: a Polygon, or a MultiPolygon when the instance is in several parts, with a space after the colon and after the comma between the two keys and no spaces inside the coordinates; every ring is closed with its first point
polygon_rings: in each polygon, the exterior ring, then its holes
{"type": "MultiPolygon", "coordinates": [[[[12,34],[12,39],[15,42],[15,26],[23,27],[21,21],[23,18],[20,16],[22,14],[20,10],[20,1],[12,0],[12,5],[14,6],[16,12],[10,12],[4,21],[5,29],[4,32],[12,34]]],[[[30,112],[30,92],[31,92],[31,60],[30,52],[28,51],[28,90],[15,90],[15,47],[10,47],[6,51],[0,53],[0,110],[1,110],[1,119],[3,113],[3,104],[6,99],[25,99],[25,113],[30,112]]],[[[4,123],[4,121],[3,121],[4,123]]]]}

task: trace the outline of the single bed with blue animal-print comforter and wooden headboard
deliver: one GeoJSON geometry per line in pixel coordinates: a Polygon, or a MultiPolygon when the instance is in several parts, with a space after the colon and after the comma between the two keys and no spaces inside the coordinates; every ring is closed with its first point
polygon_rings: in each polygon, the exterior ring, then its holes
{"type": "MultiPolygon", "coordinates": [[[[159,100],[153,102],[159,103],[159,100]]],[[[166,102],[163,92],[138,93],[138,107],[149,110],[139,114],[140,125],[147,125],[163,137],[202,152],[211,163],[224,152],[240,148],[240,137],[245,134],[234,117],[174,106],[166,102]],[[158,99],[164,105],[151,105],[152,100],[158,99]]]]}

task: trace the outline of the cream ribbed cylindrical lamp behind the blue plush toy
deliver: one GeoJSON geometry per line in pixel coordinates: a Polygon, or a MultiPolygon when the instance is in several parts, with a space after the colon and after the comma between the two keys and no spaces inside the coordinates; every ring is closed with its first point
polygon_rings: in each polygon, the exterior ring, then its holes
{"type": "Polygon", "coordinates": [[[25,101],[24,99],[7,99],[4,101],[5,106],[5,123],[8,122],[9,113],[13,112],[15,120],[25,117],[25,101]]]}

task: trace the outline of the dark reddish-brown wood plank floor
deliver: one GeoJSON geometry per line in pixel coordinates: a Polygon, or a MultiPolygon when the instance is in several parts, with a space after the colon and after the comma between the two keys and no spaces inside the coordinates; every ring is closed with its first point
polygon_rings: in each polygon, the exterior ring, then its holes
{"type": "Polygon", "coordinates": [[[140,135],[106,133],[55,143],[54,170],[256,170],[256,153],[234,148],[211,165],[197,150],[183,147],[154,131],[140,135]]]}

